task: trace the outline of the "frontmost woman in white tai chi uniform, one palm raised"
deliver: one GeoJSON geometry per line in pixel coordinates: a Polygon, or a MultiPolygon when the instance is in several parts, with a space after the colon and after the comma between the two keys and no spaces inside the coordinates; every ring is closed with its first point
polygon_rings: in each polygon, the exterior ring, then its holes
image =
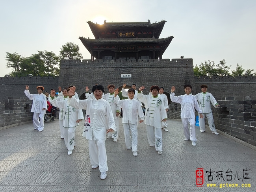
{"type": "Polygon", "coordinates": [[[100,168],[100,179],[106,179],[108,165],[106,153],[106,133],[116,131],[115,120],[109,103],[102,98],[102,85],[93,86],[94,99],[78,100],[74,95],[75,87],[69,91],[69,105],[86,109],[83,136],[89,141],[89,155],[92,168],[100,168]]]}

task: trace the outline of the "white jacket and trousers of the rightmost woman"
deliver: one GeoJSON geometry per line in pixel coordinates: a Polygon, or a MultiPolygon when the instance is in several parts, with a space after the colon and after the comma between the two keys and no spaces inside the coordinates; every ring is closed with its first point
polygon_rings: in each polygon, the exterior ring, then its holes
{"type": "Polygon", "coordinates": [[[212,94],[208,92],[200,92],[195,95],[195,98],[198,100],[198,105],[200,109],[203,111],[204,118],[199,118],[199,127],[200,131],[205,131],[205,117],[207,117],[208,125],[211,131],[216,131],[215,124],[213,121],[212,111],[211,111],[211,103],[216,108],[216,105],[219,105],[212,94]]]}

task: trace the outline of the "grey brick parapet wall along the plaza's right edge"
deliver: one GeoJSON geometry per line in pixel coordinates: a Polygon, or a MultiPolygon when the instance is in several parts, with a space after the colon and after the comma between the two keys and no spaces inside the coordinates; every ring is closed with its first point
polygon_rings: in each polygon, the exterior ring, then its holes
{"type": "Polygon", "coordinates": [[[226,97],[212,109],[217,129],[256,146],[256,96],[226,97]]]}

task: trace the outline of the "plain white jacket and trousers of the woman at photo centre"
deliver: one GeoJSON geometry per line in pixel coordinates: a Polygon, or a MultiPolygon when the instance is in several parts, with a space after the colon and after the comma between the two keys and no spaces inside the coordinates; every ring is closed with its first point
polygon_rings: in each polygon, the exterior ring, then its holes
{"type": "MultiPolygon", "coordinates": [[[[118,95],[117,95],[118,96],[118,95]]],[[[122,123],[124,125],[124,139],[126,148],[132,148],[132,151],[137,151],[138,145],[138,116],[141,120],[144,120],[144,113],[142,111],[140,102],[135,99],[120,100],[119,97],[115,97],[117,105],[122,107],[122,123]],[[130,136],[130,131],[132,138],[130,136]]]]}

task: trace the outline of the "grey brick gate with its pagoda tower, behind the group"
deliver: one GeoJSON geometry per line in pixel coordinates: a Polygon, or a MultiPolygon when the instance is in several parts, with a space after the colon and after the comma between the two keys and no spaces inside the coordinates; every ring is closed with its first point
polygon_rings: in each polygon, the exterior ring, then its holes
{"type": "Polygon", "coordinates": [[[88,21],[95,39],[79,37],[91,53],[88,60],[61,60],[59,86],[76,85],[76,92],[84,98],[85,87],[109,84],[117,88],[123,83],[144,85],[148,94],[152,85],[165,88],[170,93],[175,85],[177,94],[183,94],[185,83],[195,85],[193,60],[163,59],[162,55],[173,36],[161,38],[165,20],[148,22],[108,23],[99,25],[88,21]]]}

